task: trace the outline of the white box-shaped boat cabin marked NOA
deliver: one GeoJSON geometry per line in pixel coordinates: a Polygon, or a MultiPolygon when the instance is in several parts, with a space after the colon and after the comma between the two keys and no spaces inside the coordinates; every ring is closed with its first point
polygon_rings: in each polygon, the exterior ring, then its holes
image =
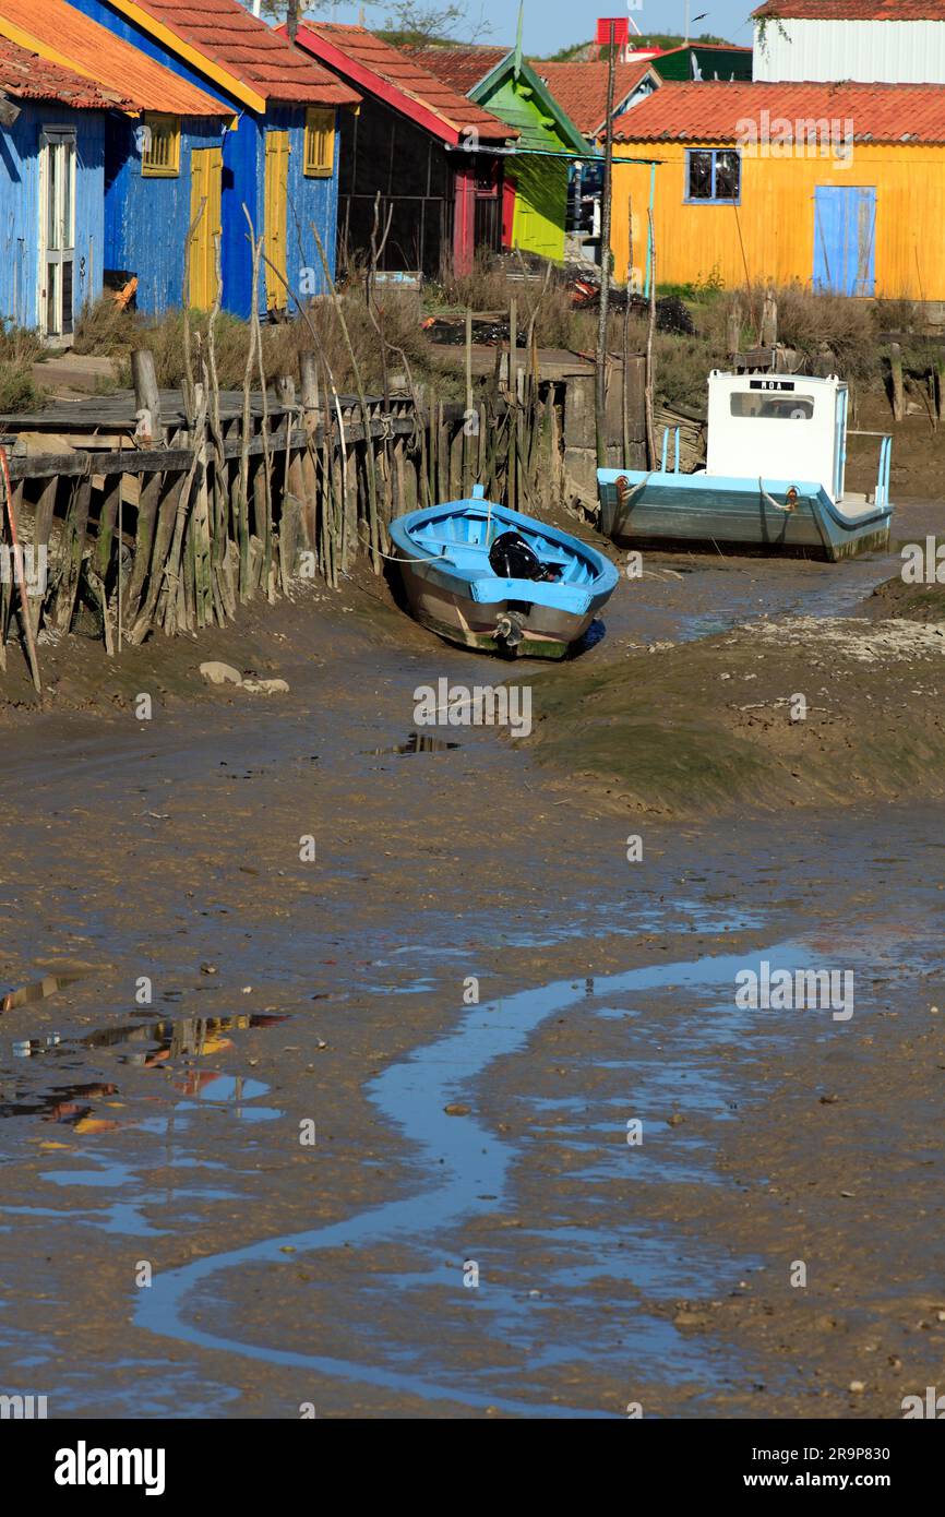
{"type": "Polygon", "coordinates": [[[796,479],[843,498],[846,384],[830,375],[708,376],[705,473],[796,479]]]}

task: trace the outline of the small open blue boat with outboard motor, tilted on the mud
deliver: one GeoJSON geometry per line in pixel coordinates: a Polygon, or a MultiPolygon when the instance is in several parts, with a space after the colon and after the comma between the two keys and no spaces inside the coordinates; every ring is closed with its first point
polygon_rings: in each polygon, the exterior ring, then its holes
{"type": "Polygon", "coordinates": [[[619,578],[590,543],[487,501],[482,485],[396,517],[390,537],[416,619],[484,652],[563,658],[619,578]]]}

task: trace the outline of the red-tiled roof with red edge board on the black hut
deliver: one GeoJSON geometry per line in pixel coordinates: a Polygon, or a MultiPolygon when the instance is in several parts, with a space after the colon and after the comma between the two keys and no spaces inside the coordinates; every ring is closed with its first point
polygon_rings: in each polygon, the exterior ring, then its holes
{"type": "Polygon", "coordinates": [[[296,44],[444,141],[458,143],[467,130],[476,132],[481,143],[505,143],[519,135],[363,26],[303,21],[296,44]]]}

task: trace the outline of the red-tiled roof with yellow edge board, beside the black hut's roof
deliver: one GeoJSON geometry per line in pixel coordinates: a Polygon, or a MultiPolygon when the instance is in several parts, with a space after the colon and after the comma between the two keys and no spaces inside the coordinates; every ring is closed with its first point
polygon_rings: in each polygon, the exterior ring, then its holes
{"type": "MultiPolygon", "coordinates": [[[[46,0],[33,0],[44,5],[46,0]]],[[[267,100],[356,105],[358,94],[291,47],[240,0],[135,0],[182,42],[226,68],[267,100]]]]}

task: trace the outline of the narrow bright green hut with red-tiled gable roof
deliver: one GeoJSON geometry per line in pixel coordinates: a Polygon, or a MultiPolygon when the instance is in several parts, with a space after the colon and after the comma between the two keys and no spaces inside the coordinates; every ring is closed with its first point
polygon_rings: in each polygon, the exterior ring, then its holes
{"type": "Polygon", "coordinates": [[[587,153],[560,102],[517,49],[422,47],[411,58],[519,132],[505,161],[502,246],[560,262],[569,167],[587,153]]]}

